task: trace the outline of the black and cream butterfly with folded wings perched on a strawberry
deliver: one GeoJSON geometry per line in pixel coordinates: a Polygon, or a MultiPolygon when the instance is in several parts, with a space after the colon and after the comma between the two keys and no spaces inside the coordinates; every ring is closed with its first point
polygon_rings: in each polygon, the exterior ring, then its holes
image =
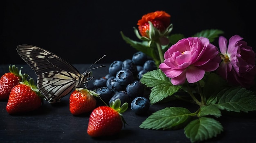
{"type": "Polygon", "coordinates": [[[37,87],[44,96],[44,100],[49,103],[59,102],[70,91],[76,87],[85,86],[85,83],[93,78],[88,69],[80,74],[73,65],[43,48],[18,45],[17,52],[34,70],[37,75],[37,87]]]}

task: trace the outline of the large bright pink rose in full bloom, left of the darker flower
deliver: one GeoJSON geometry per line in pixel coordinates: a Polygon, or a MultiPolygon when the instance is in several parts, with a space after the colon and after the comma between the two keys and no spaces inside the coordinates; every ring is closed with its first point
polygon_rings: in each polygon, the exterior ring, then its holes
{"type": "Polygon", "coordinates": [[[218,49],[205,37],[181,39],[164,53],[164,63],[159,65],[173,85],[198,82],[205,72],[219,67],[218,49]]]}

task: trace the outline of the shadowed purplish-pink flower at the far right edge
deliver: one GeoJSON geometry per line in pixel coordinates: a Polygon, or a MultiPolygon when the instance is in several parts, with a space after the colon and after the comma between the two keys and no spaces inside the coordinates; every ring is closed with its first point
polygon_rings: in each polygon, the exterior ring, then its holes
{"type": "Polygon", "coordinates": [[[220,36],[219,46],[223,61],[217,73],[230,84],[247,88],[254,84],[256,58],[252,47],[247,46],[242,39],[239,35],[234,35],[227,46],[227,39],[220,36]]]}

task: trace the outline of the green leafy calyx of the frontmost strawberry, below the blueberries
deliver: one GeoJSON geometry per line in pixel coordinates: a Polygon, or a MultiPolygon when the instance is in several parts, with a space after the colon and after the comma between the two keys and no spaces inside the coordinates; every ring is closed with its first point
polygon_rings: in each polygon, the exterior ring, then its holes
{"type": "Polygon", "coordinates": [[[123,115],[121,113],[124,113],[128,109],[128,103],[125,102],[124,104],[121,105],[121,100],[117,98],[115,101],[110,103],[110,108],[113,108],[115,111],[117,111],[122,119],[122,122],[124,123],[124,126],[126,123],[123,115]]]}

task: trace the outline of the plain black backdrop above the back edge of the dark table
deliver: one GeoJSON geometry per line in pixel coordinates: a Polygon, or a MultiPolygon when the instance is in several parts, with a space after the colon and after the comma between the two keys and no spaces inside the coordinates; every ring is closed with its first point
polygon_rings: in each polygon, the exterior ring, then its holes
{"type": "MultiPolygon", "coordinates": [[[[139,41],[133,32],[142,15],[157,10],[171,15],[173,31],[190,37],[201,30],[223,30],[227,39],[244,37],[255,48],[253,1],[236,0],[73,0],[1,1],[0,64],[25,63],[20,44],[35,45],[74,63],[112,63],[137,52],[120,35],[139,41]]],[[[217,42],[217,41],[216,41],[217,42]]],[[[214,44],[218,47],[218,42],[214,44]]]]}

